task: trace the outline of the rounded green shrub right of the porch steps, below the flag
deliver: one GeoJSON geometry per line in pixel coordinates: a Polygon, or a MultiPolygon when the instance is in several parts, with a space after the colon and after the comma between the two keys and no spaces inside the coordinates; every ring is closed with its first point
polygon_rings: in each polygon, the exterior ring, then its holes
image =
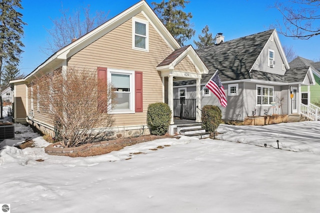
{"type": "Polygon", "coordinates": [[[215,132],[221,123],[222,113],[219,107],[205,105],[202,107],[202,128],[207,132],[215,132]]]}

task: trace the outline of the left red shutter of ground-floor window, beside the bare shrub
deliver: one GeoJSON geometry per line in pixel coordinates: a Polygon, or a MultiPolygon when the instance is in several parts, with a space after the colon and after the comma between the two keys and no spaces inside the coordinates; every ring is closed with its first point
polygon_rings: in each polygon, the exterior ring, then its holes
{"type": "Polygon", "coordinates": [[[106,96],[106,67],[97,67],[97,76],[98,76],[98,110],[102,112],[107,112],[106,109],[103,109],[105,107],[104,103],[107,101],[106,96]]]}

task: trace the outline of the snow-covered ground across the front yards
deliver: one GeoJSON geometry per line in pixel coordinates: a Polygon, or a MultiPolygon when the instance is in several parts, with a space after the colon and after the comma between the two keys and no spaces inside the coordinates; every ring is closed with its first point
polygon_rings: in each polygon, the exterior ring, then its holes
{"type": "Polygon", "coordinates": [[[160,139],[87,158],[46,155],[40,136],[22,125],[15,130],[20,140],[33,138],[37,146],[0,151],[0,203],[10,204],[12,213],[316,213],[320,208],[320,122],[220,125],[223,140],[160,139]],[[270,148],[276,140],[296,152],[270,148]],[[158,146],[164,148],[151,150],[158,146]]]}

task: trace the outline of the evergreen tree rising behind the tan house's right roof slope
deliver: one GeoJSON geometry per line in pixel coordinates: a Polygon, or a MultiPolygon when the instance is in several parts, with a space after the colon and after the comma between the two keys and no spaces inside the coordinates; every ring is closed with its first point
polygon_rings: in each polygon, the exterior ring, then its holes
{"type": "Polygon", "coordinates": [[[189,2],[188,0],[151,2],[154,12],[181,46],[184,46],[183,42],[189,40],[195,33],[190,24],[192,14],[181,10],[189,2]]]}

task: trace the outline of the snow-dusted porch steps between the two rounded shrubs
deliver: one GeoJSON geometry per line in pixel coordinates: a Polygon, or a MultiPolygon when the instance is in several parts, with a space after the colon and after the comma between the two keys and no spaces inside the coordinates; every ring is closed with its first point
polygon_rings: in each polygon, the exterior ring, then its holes
{"type": "Polygon", "coordinates": [[[178,125],[176,128],[178,134],[185,136],[196,137],[198,139],[204,139],[210,136],[210,133],[202,129],[201,123],[178,125]]]}

